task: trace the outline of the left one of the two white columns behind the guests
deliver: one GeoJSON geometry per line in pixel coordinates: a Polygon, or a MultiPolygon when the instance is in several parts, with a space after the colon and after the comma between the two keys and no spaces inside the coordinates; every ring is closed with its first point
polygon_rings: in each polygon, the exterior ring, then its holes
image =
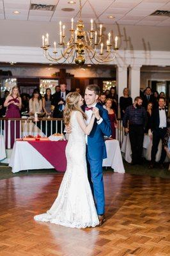
{"type": "MultiPolygon", "coordinates": [[[[123,96],[123,89],[127,87],[127,65],[117,65],[116,67],[116,90],[118,93],[118,102],[123,96]]],[[[120,108],[118,108],[118,118],[120,118],[120,108]]]]}

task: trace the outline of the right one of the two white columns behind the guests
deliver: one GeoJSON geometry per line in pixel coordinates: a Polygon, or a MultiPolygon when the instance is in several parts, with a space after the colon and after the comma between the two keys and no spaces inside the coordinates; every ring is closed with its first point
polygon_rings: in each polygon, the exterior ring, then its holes
{"type": "Polygon", "coordinates": [[[128,77],[128,88],[130,89],[130,95],[134,101],[135,97],[140,95],[140,77],[141,77],[141,65],[130,66],[128,77]]]}

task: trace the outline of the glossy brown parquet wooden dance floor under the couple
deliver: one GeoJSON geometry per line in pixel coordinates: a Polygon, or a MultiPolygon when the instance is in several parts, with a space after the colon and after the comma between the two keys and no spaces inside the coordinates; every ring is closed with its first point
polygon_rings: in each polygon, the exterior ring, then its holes
{"type": "Polygon", "coordinates": [[[75,229],[33,220],[56,198],[63,174],[0,180],[1,256],[170,255],[169,180],[107,172],[107,221],[75,229]]]}

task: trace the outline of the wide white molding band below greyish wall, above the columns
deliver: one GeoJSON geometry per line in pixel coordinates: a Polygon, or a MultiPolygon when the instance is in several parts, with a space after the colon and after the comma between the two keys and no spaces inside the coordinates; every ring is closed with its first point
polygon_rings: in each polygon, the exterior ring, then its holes
{"type": "MultiPolygon", "coordinates": [[[[0,46],[0,62],[51,63],[43,56],[40,47],[0,46]]],[[[86,64],[91,64],[86,62],[86,64]]],[[[105,63],[106,64],[106,63],[105,63]]],[[[169,51],[123,51],[109,65],[141,67],[142,65],[170,66],[169,51]]]]}

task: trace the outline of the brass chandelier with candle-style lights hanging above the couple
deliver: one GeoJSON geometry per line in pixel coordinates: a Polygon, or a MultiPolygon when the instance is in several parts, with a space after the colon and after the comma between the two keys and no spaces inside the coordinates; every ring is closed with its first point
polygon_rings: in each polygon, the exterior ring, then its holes
{"type": "Polygon", "coordinates": [[[116,58],[118,51],[118,36],[115,37],[114,42],[111,42],[111,33],[108,33],[106,47],[104,50],[104,43],[102,35],[102,24],[100,24],[99,33],[93,29],[93,20],[91,19],[90,31],[84,30],[84,24],[81,18],[82,4],[79,0],[79,20],[74,29],[73,18],[71,20],[70,39],[66,42],[65,25],[59,22],[59,52],[57,43],[54,42],[54,47],[49,45],[49,34],[42,36],[43,54],[49,61],[61,63],[73,63],[81,66],[86,60],[93,64],[107,63],[116,58]]]}

